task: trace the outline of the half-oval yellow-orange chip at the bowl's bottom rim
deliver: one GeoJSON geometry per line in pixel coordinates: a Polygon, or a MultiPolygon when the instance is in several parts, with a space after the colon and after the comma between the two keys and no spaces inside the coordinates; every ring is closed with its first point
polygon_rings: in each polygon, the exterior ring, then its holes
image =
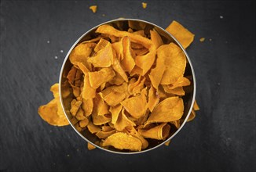
{"type": "Polygon", "coordinates": [[[142,143],[140,139],[133,137],[132,135],[118,132],[112,134],[104,142],[102,146],[112,145],[116,149],[128,149],[131,151],[141,151],[142,143]]]}

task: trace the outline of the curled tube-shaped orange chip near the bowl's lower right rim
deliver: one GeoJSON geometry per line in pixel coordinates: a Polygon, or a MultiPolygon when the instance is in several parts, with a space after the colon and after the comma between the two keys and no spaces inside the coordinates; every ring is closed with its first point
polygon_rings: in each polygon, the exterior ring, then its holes
{"type": "Polygon", "coordinates": [[[170,125],[162,123],[150,129],[138,129],[139,134],[144,138],[153,138],[156,140],[165,140],[170,133],[170,125]]]}

